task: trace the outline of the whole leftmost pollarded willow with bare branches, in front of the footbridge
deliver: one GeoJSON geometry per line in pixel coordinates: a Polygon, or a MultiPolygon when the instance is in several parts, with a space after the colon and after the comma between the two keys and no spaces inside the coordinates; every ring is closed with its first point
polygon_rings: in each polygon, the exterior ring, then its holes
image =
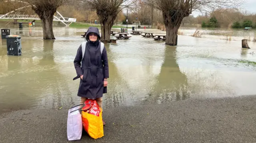
{"type": "Polygon", "coordinates": [[[40,17],[43,27],[44,39],[55,39],[52,22],[57,8],[70,2],[71,0],[1,0],[6,6],[8,4],[17,5],[24,4],[24,8],[32,7],[32,10],[40,17]]]}

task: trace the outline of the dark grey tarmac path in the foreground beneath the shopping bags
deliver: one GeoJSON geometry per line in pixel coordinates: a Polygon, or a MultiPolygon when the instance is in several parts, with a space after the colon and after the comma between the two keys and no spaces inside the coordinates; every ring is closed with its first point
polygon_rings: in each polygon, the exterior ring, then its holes
{"type": "Polygon", "coordinates": [[[68,109],[0,116],[0,143],[255,143],[256,96],[179,100],[104,110],[104,137],[68,141],[68,109]]]}

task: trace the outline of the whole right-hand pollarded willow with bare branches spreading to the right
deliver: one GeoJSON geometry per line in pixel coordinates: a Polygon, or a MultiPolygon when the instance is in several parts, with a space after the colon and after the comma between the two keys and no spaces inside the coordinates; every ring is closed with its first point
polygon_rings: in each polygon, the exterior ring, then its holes
{"type": "Polygon", "coordinates": [[[148,5],[161,10],[166,27],[166,45],[177,45],[177,33],[184,17],[193,11],[205,12],[214,9],[236,8],[245,0],[144,0],[148,5]]]}

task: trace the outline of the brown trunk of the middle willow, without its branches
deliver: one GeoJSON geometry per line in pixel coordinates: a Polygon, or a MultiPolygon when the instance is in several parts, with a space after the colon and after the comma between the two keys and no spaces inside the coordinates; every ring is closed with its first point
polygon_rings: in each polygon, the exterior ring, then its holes
{"type": "Polygon", "coordinates": [[[105,12],[97,12],[98,18],[100,20],[100,25],[101,25],[101,38],[100,40],[106,40],[110,42],[110,33],[111,33],[111,28],[114,25],[114,21],[116,19],[117,14],[114,12],[111,15],[106,15],[107,13],[105,12]]]}

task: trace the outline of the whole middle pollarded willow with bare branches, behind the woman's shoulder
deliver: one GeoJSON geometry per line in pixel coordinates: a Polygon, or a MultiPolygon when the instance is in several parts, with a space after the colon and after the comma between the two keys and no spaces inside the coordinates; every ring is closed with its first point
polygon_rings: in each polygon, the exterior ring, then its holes
{"type": "Polygon", "coordinates": [[[117,14],[134,2],[130,0],[83,0],[96,10],[101,25],[101,40],[110,41],[111,28],[117,14]]]}

